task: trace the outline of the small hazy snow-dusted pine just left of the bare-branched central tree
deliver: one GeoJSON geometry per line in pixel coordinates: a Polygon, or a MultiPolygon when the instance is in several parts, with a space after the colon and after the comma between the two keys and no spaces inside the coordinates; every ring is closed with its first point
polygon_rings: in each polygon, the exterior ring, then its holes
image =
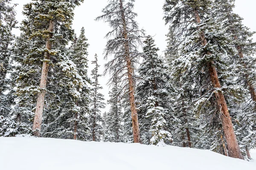
{"type": "Polygon", "coordinates": [[[104,136],[105,142],[123,142],[123,113],[122,113],[122,89],[118,87],[117,80],[113,84],[112,90],[109,92],[110,99],[108,104],[111,105],[110,110],[105,118],[106,131],[104,136]]]}

